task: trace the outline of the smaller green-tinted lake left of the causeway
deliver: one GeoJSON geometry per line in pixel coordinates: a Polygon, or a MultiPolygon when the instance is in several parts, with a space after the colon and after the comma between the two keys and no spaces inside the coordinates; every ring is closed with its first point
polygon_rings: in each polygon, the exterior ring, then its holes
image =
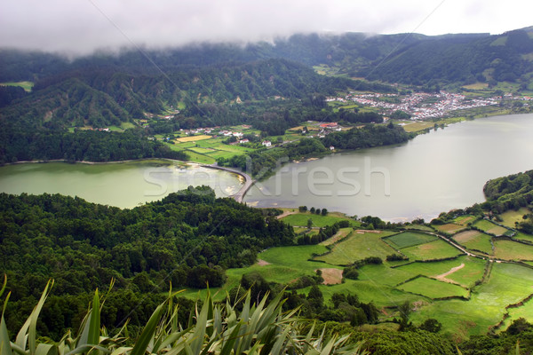
{"type": "Polygon", "coordinates": [[[198,164],[139,161],[106,164],[23,163],[0,168],[4,193],[61,193],[87,201],[131,208],[161,200],[188,185],[210,185],[227,197],[243,185],[243,177],[198,164]]]}

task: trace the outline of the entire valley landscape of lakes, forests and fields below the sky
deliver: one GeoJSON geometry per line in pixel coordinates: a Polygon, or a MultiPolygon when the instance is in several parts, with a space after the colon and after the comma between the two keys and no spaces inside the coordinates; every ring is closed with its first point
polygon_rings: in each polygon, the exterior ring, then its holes
{"type": "Polygon", "coordinates": [[[137,49],[0,49],[2,353],[533,349],[532,28],[137,49]]]}

